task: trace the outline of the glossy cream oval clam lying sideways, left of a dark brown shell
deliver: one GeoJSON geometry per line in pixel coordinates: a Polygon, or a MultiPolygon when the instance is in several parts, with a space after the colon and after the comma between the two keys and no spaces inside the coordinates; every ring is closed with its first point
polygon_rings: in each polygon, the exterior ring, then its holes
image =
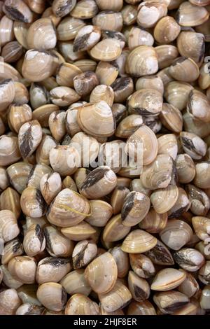
{"type": "Polygon", "coordinates": [[[143,230],[134,230],[123,241],[121,246],[125,253],[145,253],[152,249],[158,240],[143,230]]]}

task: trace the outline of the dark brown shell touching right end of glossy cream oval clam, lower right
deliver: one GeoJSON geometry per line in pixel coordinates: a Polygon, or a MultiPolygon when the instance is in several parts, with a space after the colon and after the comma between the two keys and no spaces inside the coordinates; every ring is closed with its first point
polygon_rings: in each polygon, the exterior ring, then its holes
{"type": "Polygon", "coordinates": [[[156,265],[174,265],[172,254],[160,241],[158,241],[154,248],[146,251],[144,254],[156,265]]]}

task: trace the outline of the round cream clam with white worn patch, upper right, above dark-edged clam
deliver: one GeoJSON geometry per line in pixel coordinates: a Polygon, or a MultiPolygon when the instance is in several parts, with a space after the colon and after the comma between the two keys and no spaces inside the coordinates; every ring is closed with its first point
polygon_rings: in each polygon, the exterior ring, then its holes
{"type": "Polygon", "coordinates": [[[132,76],[146,76],[158,71],[158,56],[155,48],[149,45],[139,45],[127,57],[127,73],[132,76]]]}

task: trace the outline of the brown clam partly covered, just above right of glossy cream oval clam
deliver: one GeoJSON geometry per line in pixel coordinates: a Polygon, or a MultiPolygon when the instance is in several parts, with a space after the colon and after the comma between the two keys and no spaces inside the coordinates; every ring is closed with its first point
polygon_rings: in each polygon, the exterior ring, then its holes
{"type": "Polygon", "coordinates": [[[150,209],[143,221],[139,223],[139,228],[149,233],[159,233],[167,225],[167,218],[166,212],[158,214],[155,209],[150,209]]]}

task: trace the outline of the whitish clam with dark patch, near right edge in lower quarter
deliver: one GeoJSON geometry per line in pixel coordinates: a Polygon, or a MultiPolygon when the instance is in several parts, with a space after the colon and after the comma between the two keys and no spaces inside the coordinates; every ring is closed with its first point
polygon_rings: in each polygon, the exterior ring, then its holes
{"type": "Polygon", "coordinates": [[[188,272],[196,272],[204,265],[204,256],[193,248],[181,248],[173,254],[173,258],[188,272]]]}

